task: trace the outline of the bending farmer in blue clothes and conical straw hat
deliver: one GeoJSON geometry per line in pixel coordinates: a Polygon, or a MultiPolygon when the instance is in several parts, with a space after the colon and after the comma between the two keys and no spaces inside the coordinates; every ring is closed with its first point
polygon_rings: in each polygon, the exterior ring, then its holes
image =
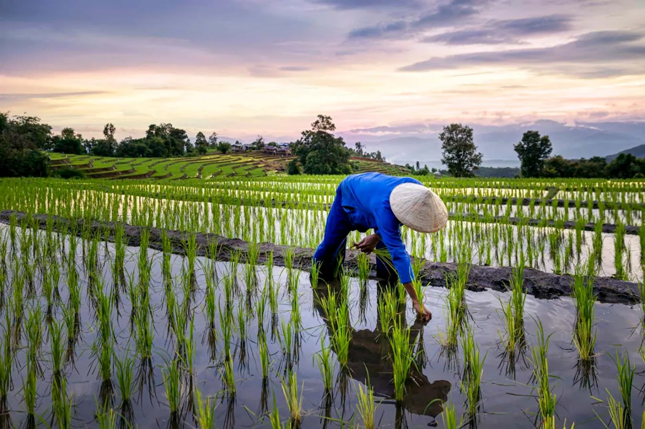
{"type": "MultiPolygon", "coordinates": [[[[388,251],[398,278],[412,299],[412,305],[423,321],[432,318],[419,303],[412,281],[410,256],[401,238],[401,225],[420,233],[433,233],[448,221],[448,211],[441,198],[411,177],[361,173],[344,178],[336,189],[336,198],[327,216],[323,242],[313,254],[321,278],[335,277],[344,261],[347,235],[352,231],[374,233],[356,247],[364,253],[388,251]]],[[[377,276],[391,278],[388,261],[377,254],[377,276]]]]}

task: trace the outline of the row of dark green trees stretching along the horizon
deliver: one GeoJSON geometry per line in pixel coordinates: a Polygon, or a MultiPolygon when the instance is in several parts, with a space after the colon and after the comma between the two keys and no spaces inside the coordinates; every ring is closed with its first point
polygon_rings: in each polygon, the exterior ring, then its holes
{"type": "MultiPolygon", "coordinates": [[[[385,161],[381,151],[368,152],[364,144],[356,142],[348,148],[342,137],[335,137],[335,124],[329,116],[318,115],[311,129],[301,132],[301,138],[292,142],[295,159],[290,163],[290,174],[351,174],[357,171],[352,157],[385,161]]],[[[0,176],[47,176],[50,164],[46,152],[88,154],[97,157],[150,157],[169,158],[204,155],[209,150],[228,152],[230,142],[219,141],[216,132],[206,137],[201,131],[191,142],[184,129],[172,124],[151,124],[141,138],[126,137],[120,142],[114,137],[116,128],[106,124],[103,138],[84,139],[74,128],[64,128],[52,134],[52,127],[38,117],[14,116],[0,113],[0,176]]],[[[477,151],[473,129],[453,123],[445,126],[439,134],[442,145],[441,162],[448,174],[456,177],[475,176],[482,163],[482,154],[477,151]]],[[[239,142],[236,142],[239,143],[239,142]]],[[[259,135],[251,144],[254,149],[277,146],[276,142],[265,144],[259,135]]],[[[568,160],[551,156],[553,146],[548,135],[528,130],[513,147],[521,162],[522,177],[570,177],[570,178],[639,178],[645,176],[645,158],[620,154],[611,162],[605,158],[568,160]]],[[[429,175],[436,170],[406,165],[413,175],[429,175]]]]}

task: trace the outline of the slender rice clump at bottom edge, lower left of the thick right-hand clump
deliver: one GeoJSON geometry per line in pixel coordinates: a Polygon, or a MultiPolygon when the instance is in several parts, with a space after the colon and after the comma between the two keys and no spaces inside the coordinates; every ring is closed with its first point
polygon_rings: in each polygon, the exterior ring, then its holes
{"type": "Polygon", "coordinates": [[[555,425],[555,394],[551,393],[549,365],[547,354],[551,335],[544,336],[542,322],[537,319],[537,345],[531,347],[531,363],[533,364],[533,377],[537,383],[537,400],[542,417],[543,428],[555,425]]]}

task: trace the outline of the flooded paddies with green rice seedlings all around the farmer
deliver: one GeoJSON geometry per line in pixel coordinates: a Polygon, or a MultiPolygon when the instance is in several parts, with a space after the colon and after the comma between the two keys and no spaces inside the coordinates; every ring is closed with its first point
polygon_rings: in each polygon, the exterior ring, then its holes
{"type": "Polygon", "coordinates": [[[0,427],[645,428],[643,182],[420,178],[450,211],[402,228],[423,325],[372,259],[307,263],[342,177],[201,165],[0,180],[0,427]]]}

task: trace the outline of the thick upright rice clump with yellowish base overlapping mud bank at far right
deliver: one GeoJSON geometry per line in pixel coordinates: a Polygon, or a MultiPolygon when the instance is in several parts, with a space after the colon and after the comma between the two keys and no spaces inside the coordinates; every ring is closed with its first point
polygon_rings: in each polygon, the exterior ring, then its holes
{"type": "Polygon", "coordinates": [[[593,329],[596,296],[593,294],[593,278],[584,274],[584,267],[577,267],[573,277],[573,299],[576,310],[573,343],[578,349],[579,358],[588,361],[594,356],[596,341],[593,329]]]}

